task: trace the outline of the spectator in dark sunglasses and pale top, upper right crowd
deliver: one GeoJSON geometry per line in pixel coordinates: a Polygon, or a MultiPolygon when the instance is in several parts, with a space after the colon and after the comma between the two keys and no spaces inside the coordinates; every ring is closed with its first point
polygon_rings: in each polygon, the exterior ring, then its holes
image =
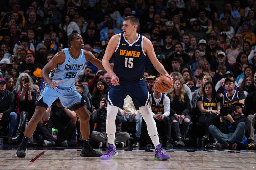
{"type": "Polygon", "coordinates": [[[236,62],[236,57],[240,52],[242,52],[242,49],[238,47],[239,40],[237,37],[231,38],[231,47],[226,50],[226,56],[228,59],[228,62],[230,65],[233,65],[233,63],[236,62]]]}

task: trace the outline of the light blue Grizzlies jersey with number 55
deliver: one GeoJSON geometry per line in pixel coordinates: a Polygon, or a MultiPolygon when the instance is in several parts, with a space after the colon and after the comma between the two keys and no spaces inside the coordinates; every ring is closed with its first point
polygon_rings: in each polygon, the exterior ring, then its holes
{"type": "Polygon", "coordinates": [[[77,59],[72,56],[69,48],[64,48],[63,51],[65,53],[65,62],[54,67],[49,77],[52,81],[62,81],[58,83],[60,87],[72,87],[86,62],[86,58],[83,49],[81,49],[81,54],[77,59]]]}

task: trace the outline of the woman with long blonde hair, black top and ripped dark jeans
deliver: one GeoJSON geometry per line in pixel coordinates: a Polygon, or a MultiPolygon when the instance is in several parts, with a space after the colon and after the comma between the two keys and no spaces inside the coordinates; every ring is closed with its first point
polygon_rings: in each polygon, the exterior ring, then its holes
{"type": "Polygon", "coordinates": [[[170,94],[170,119],[172,122],[174,136],[176,138],[173,145],[177,147],[184,147],[185,144],[182,139],[186,137],[191,122],[191,117],[189,116],[191,111],[190,99],[184,92],[182,80],[174,80],[173,86],[174,88],[172,88],[170,94]],[[179,124],[182,124],[181,129],[179,128],[179,124]]]}

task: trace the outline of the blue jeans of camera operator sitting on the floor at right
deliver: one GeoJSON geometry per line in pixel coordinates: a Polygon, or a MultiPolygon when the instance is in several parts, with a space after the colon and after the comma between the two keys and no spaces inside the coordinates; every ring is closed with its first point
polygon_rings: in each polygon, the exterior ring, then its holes
{"type": "Polygon", "coordinates": [[[238,123],[234,133],[222,133],[216,126],[210,125],[209,132],[215,137],[221,144],[225,144],[227,141],[230,143],[235,143],[235,141],[244,141],[245,134],[245,123],[238,123]]]}

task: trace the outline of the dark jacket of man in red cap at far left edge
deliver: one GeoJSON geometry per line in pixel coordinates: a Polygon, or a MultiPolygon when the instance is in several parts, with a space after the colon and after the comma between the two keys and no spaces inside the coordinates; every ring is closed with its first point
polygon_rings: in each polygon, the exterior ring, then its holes
{"type": "Polygon", "coordinates": [[[3,93],[0,93],[0,113],[6,116],[13,112],[15,107],[14,101],[14,95],[9,90],[5,89],[3,93]]]}

